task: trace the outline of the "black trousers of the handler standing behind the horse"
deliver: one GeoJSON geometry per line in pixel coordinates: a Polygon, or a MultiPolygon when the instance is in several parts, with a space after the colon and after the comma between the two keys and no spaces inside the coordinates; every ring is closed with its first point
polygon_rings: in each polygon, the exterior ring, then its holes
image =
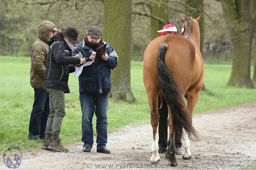
{"type": "MultiPolygon", "coordinates": [[[[163,100],[163,105],[161,109],[158,109],[159,112],[159,125],[158,125],[158,134],[159,134],[159,141],[158,141],[158,146],[160,147],[167,147],[167,136],[168,136],[168,106],[165,101],[165,98],[163,97],[162,94],[162,100],[163,100]]],[[[160,101],[160,95],[158,97],[158,108],[161,105],[160,101]]],[[[170,143],[168,143],[170,145],[170,143]]],[[[180,142],[180,139],[178,138],[177,135],[177,129],[175,130],[175,146],[178,148],[181,148],[182,143],[180,142]]]]}

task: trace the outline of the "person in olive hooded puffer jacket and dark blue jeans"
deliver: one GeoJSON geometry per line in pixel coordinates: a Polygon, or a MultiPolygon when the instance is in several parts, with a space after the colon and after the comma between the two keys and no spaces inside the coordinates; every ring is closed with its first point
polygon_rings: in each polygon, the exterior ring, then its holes
{"type": "Polygon", "coordinates": [[[29,138],[45,138],[45,128],[49,116],[49,96],[44,89],[43,81],[49,46],[47,42],[55,35],[55,24],[42,21],[38,26],[38,39],[31,50],[30,84],[34,88],[34,104],[29,121],[29,138]]]}

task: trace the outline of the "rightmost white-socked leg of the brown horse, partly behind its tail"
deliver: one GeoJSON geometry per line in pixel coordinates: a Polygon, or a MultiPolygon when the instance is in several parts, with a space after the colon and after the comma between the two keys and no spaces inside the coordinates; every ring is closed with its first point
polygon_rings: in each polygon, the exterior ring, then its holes
{"type": "MultiPolygon", "coordinates": [[[[191,122],[192,122],[192,115],[195,108],[195,105],[197,104],[197,100],[199,97],[199,92],[197,94],[190,94],[188,97],[186,97],[187,100],[187,108],[190,114],[191,122]]],[[[189,150],[190,143],[189,143],[189,134],[187,132],[184,132],[184,152],[182,154],[182,159],[192,159],[192,154],[189,150]]]]}

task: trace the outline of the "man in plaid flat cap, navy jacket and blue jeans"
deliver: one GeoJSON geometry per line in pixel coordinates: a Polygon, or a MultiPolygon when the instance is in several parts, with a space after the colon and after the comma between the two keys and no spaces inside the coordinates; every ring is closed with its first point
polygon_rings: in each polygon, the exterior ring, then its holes
{"type": "Polygon", "coordinates": [[[101,28],[89,27],[77,49],[72,55],[80,58],[95,58],[97,48],[107,44],[104,60],[99,66],[93,68],[93,64],[83,67],[79,79],[79,99],[82,109],[82,142],[83,151],[91,152],[93,145],[93,124],[92,119],[95,112],[97,117],[97,152],[110,154],[106,148],[107,143],[107,109],[109,104],[108,93],[111,89],[110,69],[114,69],[118,63],[118,56],[113,47],[103,41],[101,28]]]}

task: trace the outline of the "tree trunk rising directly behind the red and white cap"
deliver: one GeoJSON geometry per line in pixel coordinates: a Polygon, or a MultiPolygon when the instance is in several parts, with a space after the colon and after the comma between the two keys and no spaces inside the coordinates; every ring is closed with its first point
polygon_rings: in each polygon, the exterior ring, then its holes
{"type": "Polygon", "coordinates": [[[167,3],[168,1],[166,0],[155,0],[155,2],[150,2],[150,5],[148,5],[148,7],[150,8],[151,15],[162,18],[165,21],[163,23],[159,20],[151,18],[151,40],[154,40],[156,37],[161,35],[157,33],[157,31],[161,30],[163,26],[165,26],[166,24],[170,24],[169,14],[165,12],[166,9],[168,8],[167,3]]]}

